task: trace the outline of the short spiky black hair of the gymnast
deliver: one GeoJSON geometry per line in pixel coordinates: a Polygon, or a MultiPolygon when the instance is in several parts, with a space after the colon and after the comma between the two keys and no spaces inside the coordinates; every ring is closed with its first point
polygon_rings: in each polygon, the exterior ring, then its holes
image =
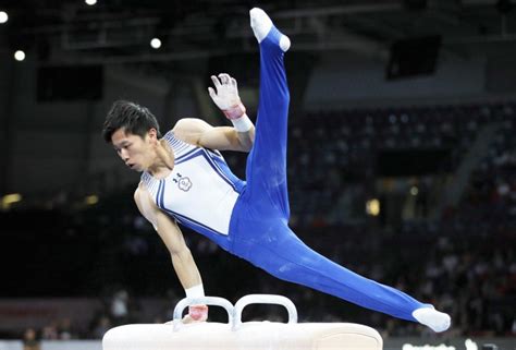
{"type": "Polygon", "coordinates": [[[156,129],[158,137],[161,137],[158,120],[150,110],[135,102],[118,100],[106,117],[102,137],[107,143],[111,143],[111,136],[116,130],[124,129],[126,133],[144,138],[152,128],[156,129]]]}

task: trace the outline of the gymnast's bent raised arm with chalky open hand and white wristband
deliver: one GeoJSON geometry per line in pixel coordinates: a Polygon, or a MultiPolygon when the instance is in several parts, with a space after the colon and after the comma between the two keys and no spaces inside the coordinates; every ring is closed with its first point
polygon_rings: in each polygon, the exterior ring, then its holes
{"type": "Polygon", "coordinates": [[[175,136],[201,147],[249,152],[255,141],[255,125],[246,114],[235,79],[222,73],[219,77],[211,76],[211,80],[217,92],[209,87],[210,97],[233,123],[233,128],[212,126],[200,119],[185,118],[175,124],[175,136]]]}

